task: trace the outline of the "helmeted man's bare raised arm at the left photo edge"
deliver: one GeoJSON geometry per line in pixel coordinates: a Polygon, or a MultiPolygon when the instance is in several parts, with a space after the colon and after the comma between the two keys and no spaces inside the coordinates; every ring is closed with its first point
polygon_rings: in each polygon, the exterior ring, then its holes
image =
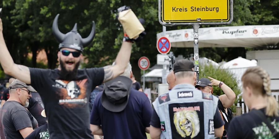
{"type": "Polygon", "coordinates": [[[31,83],[30,71],[29,68],[24,65],[17,65],[14,63],[11,54],[8,51],[8,48],[5,44],[3,36],[3,24],[2,19],[0,18],[0,63],[5,72],[12,77],[18,78],[26,84],[31,83]]]}

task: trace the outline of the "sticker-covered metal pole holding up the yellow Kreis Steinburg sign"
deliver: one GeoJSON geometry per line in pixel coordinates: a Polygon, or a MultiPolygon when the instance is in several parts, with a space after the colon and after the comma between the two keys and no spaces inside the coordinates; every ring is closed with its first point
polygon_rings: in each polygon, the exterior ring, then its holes
{"type": "Polygon", "coordinates": [[[195,72],[197,73],[197,81],[199,80],[199,23],[194,23],[192,25],[194,29],[194,64],[195,72]]]}

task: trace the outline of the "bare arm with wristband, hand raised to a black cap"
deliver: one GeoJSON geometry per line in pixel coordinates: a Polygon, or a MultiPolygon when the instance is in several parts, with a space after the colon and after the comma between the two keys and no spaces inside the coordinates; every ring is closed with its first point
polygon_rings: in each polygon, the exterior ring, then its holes
{"type": "MultiPolygon", "coordinates": [[[[219,86],[220,81],[208,77],[211,79],[211,85],[215,85],[215,86],[219,86]]],[[[219,99],[222,102],[224,108],[229,108],[232,106],[232,104],[234,103],[235,100],[235,93],[232,91],[232,89],[227,86],[225,83],[223,83],[223,85],[221,86],[221,89],[223,90],[223,92],[225,93],[224,95],[220,95],[219,99]]]]}

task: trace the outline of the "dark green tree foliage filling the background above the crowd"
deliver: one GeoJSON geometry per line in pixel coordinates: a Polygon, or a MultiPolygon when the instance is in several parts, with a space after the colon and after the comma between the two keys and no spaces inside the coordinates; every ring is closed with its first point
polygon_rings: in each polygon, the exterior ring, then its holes
{"type": "MultiPolygon", "coordinates": [[[[91,30],[92,20],[96,23],[96,36],[93,43],[85,48],[88,63],[85,67],[104,66],[114,61],[122,43],[123,32],[117,21],[117,8],[123,5],[131,9],[139,18],[145,19],[147,35],[138,44],[133,44],[131,64],[136,78],[140,70],[139,57],[150,59],[151,66],[156,63],[156,33],[162,32],[158,22],[157,0],[2,0],[3,33],[8,49],[15,63],[26,65],[27,53],[33,53],[32,66],[37,67],[38,50],[47,53],[48,68],[57,65],[58,43],[52,35],[52,22],[60,14],[59,28],[69,32],[74,23],[83,38],[91,30]]],[[[279,24],[279,0],[237,0],[234,1],[234,20],[231,26],[279,24]]],[[[214,26],[202,26],[214,27],[214,26]]],[[[190,26],[167,27],[167,30],[191,28],[190,26]]],[[[188,57],[193,48],[172,48],[174,54],[188,57]]],[[[200,48],[200,55],[217,62],[229,61],[238,56],[245,57],[245,48],[200,48]]]]}

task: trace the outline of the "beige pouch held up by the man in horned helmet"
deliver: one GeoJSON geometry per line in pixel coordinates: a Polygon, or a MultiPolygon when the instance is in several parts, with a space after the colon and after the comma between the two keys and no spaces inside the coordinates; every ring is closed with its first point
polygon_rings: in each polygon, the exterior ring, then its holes
{"type": "Polygon", "coordinates": [[[144,32],[144,27],[131,9],[119,12],[118,20],[130,39],[136,39],[144,32]]]}

